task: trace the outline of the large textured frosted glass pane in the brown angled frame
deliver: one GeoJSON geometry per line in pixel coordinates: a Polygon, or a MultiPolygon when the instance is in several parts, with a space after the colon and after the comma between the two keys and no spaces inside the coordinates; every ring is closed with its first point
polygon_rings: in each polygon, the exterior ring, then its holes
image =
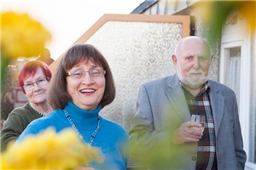
{"type": "Polygon", "coordinates": [[[182,31],[179,23],[108,21],[85,42],[106,57],[116,85],[101,116],[130,128],[140,85],[175,73],[172,54],[182,31]]]}

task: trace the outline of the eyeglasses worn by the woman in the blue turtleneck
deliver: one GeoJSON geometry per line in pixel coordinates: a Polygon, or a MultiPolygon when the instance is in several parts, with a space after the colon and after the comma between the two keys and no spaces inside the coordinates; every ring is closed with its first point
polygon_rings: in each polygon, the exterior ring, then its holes
{"type": "Polygon", "coordinates": [[[86,72],[89,72],[90,77],[102,77],[106,74],[106,71],[103,71],[102,69],[92,69],[90,71],[77,70],[73,72],[67,72],[66,76],[72,78],[83,78],[85,77],[86,72]]]}

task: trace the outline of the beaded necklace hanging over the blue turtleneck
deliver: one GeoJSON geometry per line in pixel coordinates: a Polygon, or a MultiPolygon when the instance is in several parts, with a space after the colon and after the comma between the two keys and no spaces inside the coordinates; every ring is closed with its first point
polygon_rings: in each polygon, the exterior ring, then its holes
{"type": "MultiPolygon", "coordinates": [[[[84,139],[84,137],[82,136],[82,134],[79,133],[79,129],[78,129],[78,128],[76,127],[76,125],[73,123],[71,117],[70,117],[70,116],[68,115],[68,113],[67,113],[67,110],[64,108],[63,111],[64,111],[65,115],[67,116],[68,122],[70,122],[70,124],[72,125],[73,129],[75,130],[75,132],[79,135],[79,138],[84,142],[84,144],[86,144],[86,143],[87,143],[86,140],[84,139]]],[[[97,118],[97,122],[98,122],[97,127],[96,127],[94,133],[92,133],[91,136],[90,136],[90,144],[93,143],[93,140],[94,140],[95,137],[96,137],[96,133],[97,133],[97,132],[99,131],[99,129],[100,129],[100,116],[99,116],[99,115],[98,115],[98,118],[97,118]]]]}

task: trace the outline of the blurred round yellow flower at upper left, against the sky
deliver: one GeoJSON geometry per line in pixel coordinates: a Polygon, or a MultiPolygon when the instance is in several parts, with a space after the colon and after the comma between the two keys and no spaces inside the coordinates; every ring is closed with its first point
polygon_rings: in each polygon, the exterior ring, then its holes
{"type": "Polygon", "coordinates": [[[6,12],[1,14],[0,22],[1,53],[4,57],[38,56],[51,39],[49,31],[28,14],[6,12]]]}

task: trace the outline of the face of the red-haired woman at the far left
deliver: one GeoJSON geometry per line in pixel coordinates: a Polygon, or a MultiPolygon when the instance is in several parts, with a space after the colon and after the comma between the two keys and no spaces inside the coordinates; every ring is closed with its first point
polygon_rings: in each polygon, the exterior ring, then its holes
{"type": "MultiPolygon", "coordinates": [[[[28,77],[25,79],[24,85],[31,82],[38,82],[38,80],[44,79],[44,78],[45,78],[44,71],[42,68],[39,67],[36,74],[33,77],[28,77]]],[[[24,89],[26,93],[25,95],[31,104],[36,104],[36,105],[42,104],[46,102],[46,91],[48,87],[49,87],[48,81],[46,81],[46,83],[44,83],[44,85],[41,85],[41,86],[38,86],[37,83],[34,83],[33,88],[31,90],[24,89]]]]}

